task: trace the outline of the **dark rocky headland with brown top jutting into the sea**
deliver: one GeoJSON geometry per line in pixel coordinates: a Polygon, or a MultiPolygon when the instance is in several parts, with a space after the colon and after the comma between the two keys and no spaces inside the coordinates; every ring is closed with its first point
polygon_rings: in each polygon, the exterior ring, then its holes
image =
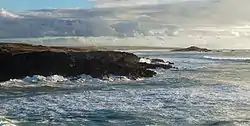
{"type": "Polygon", "coordinates": [[[137,79],[153,77],[156,72],[152,69],[174,68],[172,64],[139,61],[140,57],[127,52],[3,43],[0,44],[0,81],[55,74],[65,77],[87,74],[94,78],[117,75],[137,79]]]}

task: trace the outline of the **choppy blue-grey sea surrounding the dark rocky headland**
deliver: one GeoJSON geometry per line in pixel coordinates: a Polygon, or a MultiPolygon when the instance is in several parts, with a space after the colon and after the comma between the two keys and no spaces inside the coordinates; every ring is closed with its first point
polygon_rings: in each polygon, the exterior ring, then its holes
{"type": "Polygon", "coordinates": [[[180,69],[136,81],[55,75],[3,82],[0,125],[250,125],[248,52],[135,53],[180,69]]]}

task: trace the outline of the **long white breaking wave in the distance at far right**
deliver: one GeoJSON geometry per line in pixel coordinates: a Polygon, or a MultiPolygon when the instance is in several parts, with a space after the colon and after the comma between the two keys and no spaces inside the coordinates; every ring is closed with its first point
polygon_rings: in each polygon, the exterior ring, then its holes
{"type": "Polygon", "coordinates": [[[203,58],[209,60],[219,60],[219,61],[250,61],[250,57],[204,56],[203,58]]]}

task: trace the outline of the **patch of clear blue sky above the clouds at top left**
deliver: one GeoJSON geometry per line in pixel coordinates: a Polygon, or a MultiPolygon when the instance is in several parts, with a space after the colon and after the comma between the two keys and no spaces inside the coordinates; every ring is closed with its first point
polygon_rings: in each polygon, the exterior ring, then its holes
{"type": "Polygon", "coordinates": [[[94,5],[88,0],[0,0],[0,8],[15,11],[46,8],[86,8],[94,5]]]}

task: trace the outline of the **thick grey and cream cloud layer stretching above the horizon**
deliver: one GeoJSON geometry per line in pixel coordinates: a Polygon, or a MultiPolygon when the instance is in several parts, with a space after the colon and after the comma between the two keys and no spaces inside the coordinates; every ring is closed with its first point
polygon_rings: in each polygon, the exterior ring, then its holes
{"type": "Polygon", "coordinates": [[[250,26],[250,0],[134,1],[98,0],[91,9],[42,9],[19,13],[24,18],[2,16],[0,38],[53,36],[61,38],[46,42],[84,45],[214,48],[236,47],[235,41],[244,41],[239,48],[250,45],[250,27],[236,27],[250,26]],[[74,37],[69,41],[68,36],[74,37]]]}

